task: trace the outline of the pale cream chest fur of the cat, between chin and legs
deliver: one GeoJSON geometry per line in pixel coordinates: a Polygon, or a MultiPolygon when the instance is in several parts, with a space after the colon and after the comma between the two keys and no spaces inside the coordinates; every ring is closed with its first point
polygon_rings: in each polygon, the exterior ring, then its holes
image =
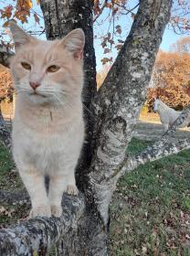
{"type": "Polygon", "coordinates": [[[83,120],[80,115],[65,115],[61,110],[19,112],[13,124],[13,142],[16,159],[23,155],[26,162],[34,164],[44,173],[67,165],[72,161],[83,140],[83,120]],[[63,163],[64,162],[64,163],[63,163]]]}

